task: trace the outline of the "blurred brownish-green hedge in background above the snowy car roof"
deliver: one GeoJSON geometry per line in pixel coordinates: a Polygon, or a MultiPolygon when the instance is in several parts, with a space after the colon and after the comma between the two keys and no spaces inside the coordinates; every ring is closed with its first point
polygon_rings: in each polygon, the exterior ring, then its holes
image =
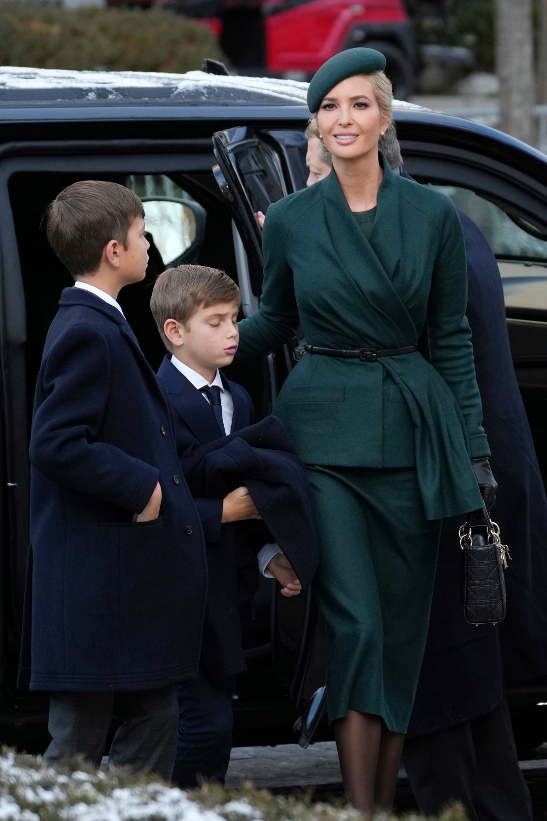
{"type": "Polygon", "coordinates": [[[0,65],[191,71],[224,59],[203,25],[169,11],[65,9],[0,0],[0,65]]]}

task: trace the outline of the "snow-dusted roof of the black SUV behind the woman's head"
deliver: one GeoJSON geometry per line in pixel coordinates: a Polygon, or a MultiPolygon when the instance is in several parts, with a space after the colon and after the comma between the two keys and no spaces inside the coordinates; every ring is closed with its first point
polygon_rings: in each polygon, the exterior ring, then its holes
{"type": "MultiPolygon", "coordinates": [[[[299,80],[206,71],[0,67],[0,143],[21,136],[33,142],[64,140],[69,133],[80,139],[110,139],[113,123],[119,137],[138,134],[147,139],[180,137],[183,122],[189,136],[241,124],[303,129],[309,117],[307,92],[308,83],[299,80]]],[[[394,100],[393,108],[403,140],[439,142],[450,149],[465,146],[521,163],[531,173],[545,173],[545,154],[501,131],[403,100],[394,100]]]]}

